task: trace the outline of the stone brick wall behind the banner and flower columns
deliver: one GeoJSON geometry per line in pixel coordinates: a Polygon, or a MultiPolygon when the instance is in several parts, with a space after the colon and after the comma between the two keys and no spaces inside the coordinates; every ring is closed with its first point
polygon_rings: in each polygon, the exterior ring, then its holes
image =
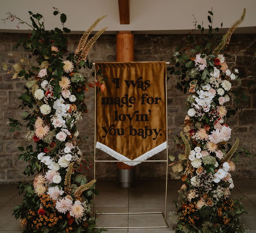
{"type": "MultiPolygon", "coordinates": [[[[8,63],[8,67],[17,63],[21,56],[27,54],[19,48],[12,51],[12,46],[22,37],[22,34],[0,33],[0,63],[8,63]]],[[[237,53],[249,46],[255,39],[255,34],[233,35],[229,45],[234,55],[228,60],[229,66],[237,68],[241,78],[249,75],[256,77],[256,43],[249,49],[237,53]]],[[[75,50],[80,35],[69,35],[69,51],[75,50]]],[[[115,35],[102,35],[94,45],[88,59],[92,62],[115,61],[115,35]]],[[[135,61],[170,61],[177,45],[185,45],[184,35],[135,35],[135,61]]],[[[86,72],[85,72],[86,73],[86,72]]],[[[20,101],[17,99],[23,92],[24,80],[11,80],[11,75],[6,75],[0,70],[0,183],[15,183],[24,180],[23,170],[26,163],[19,161],[17,155],[18,146],[26,146],[25,135],[27,129],[22,126],[21,131],[9,133],[8,117],[20,119],[22,110],[17,107],[20,101]]],[[[168,128],[175,136],[181,130],[180,125],[186,115],[186,97],[176,90],[175,77],[168,81],[168,128]]],[[[249,102],[243,103],[244,110],[231,117],[229,125],[232,127],[232,141],[240,137],[241,146],[256,153],[255,131],[256,130],[256,93],[255,87],[245,88],[249,95],[249,102]]],[[[90,90],[86,96],[89,113],[83,115],[83,120],[79,122],[80,136],[89,137],[87,141],[82,140],[81,149],[83,154],[91,155],[94,141],[94,94],[90,90]]],[[[169,153],[178,155],[181,150],[177,150],[173,143],[173,137],[169,137],[169,153]]],[[[97,153],[98,158],[111,159],[109,155],[102,152],[97,153]]],[[[164,159],[165,153],[159,153],[152,159],[164,159]]],[[[233,177],[255,177],[256,158],[241,157],[241,162],[237,163],[237,169],[233,172],[233,177]]],[[[136,166],[137,178],[151,179],[165,177],[165,163],[157,164],[141,163],[136,166]]],[[[89,178],[93,176],[93,170],[84,172],[89,178]]],[[[169,172],[170,173],[170,172],[169,172]]],[[[96,178],[115,179],[117,177],[116,163],[97,163],[96,178]]],[[[28,178],[28,180],[31,178],[28,178]]]]}

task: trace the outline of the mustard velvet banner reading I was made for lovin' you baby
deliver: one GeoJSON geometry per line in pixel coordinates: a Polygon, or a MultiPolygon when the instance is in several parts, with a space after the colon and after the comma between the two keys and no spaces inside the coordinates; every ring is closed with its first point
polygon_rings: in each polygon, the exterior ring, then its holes
{"type": "Polygon", "coordinates": [[[96,148],[128,165],[166,149],[166,63],[96,63],[107,77],[96,93],[96,148]]]}

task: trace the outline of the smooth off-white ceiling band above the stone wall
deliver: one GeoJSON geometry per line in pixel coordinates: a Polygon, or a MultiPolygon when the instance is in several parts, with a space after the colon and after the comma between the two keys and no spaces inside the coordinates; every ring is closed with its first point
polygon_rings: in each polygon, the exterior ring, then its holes
{"type": "MultiPolygon", "coordinates": [[[[95,19],[107,15],[96,30],[108,26],[107,33],[133,31],[134,33],[180,34],[193,28],[193,14],[198,23],[208,28],[208,12],[213,7],[213,27],[228,28],[246,8],[247,14],[237,33],[256,33],[256,0],[130,0],[130,24],[120,25],[118,0],[1,0],[0,18],[10,11],[29,22],[28,11],[40,13],[45,18],[46,29],[61,28],[59,16],[53,15],[53,7],[67,15],[65,27],[72,33],[82,33],[95,19]]],[[[26,32],[28,26],[17,22],[0,22],[2,32],[26,32]]]]}

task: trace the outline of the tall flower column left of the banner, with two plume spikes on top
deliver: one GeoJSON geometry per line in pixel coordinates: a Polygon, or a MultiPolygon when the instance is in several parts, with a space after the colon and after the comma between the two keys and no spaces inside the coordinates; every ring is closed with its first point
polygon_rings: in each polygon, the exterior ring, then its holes
{"type": "MultiPolygon", "coordinates": [[[[24,174],[36,175],[32,183],[20,185],[24,199],[15,207],[14,214],[20,218],[23,232],[101,232],[94,229],[95,218],[90,210],[96,180],[89,182],[79,173],[80,164],[88,167],[92,164],[81,158],[76,124],[82,119],[82,112],[87,112],[85,91],[94,86],[79,70],[92,69],[88,52],[106,28],[90,39],[89,36],[105,16],[82,35],[75,53],[64,58],[67,52],[64,33],[70,32],[64,27],[66,15],[55,8],[53,14],[60,16],[62,29],[46,31],[43,16],[29,14],[31,25],[11,13],[5,19],[18,21],[17,27],[22,23],[31,28],[31,33],[14,47],[22,44],[28,58],[21,58],[13,71],[3,65],[7,73],[14,73],[13,79],[27,80],[25,93],[19,97],[20,107],[25,110],[22,118],[30,129],[26,141],[35,142],[35,149],[32,145],[19,147],[22,151],[19,159],[28,162],[24,174]],[[32,60],[38,64],[32,64],[32,60]]],[[[95,72],[93,75],[96,88],[104,91],[101,75],[95,72]]],[[[20,130],[18,120],[10,122],[10,132],[20,130]]]]}

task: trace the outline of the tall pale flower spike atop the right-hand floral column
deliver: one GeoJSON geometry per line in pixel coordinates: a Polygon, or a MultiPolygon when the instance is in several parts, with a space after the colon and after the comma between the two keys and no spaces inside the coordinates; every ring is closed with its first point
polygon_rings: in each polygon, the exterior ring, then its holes
{"type": "Polygon", "coordinates": [[[220,54],[220,52],[224,49],[224,47],[229,44],[233,32],[244,21],[245,14],[246,14],[246,9],[244,8],[244,11],[241,17],[231,25],[227,33],[222,37],[220,44],[213,50],[213,53],[212,53],[213,55],[220,54]]]}

